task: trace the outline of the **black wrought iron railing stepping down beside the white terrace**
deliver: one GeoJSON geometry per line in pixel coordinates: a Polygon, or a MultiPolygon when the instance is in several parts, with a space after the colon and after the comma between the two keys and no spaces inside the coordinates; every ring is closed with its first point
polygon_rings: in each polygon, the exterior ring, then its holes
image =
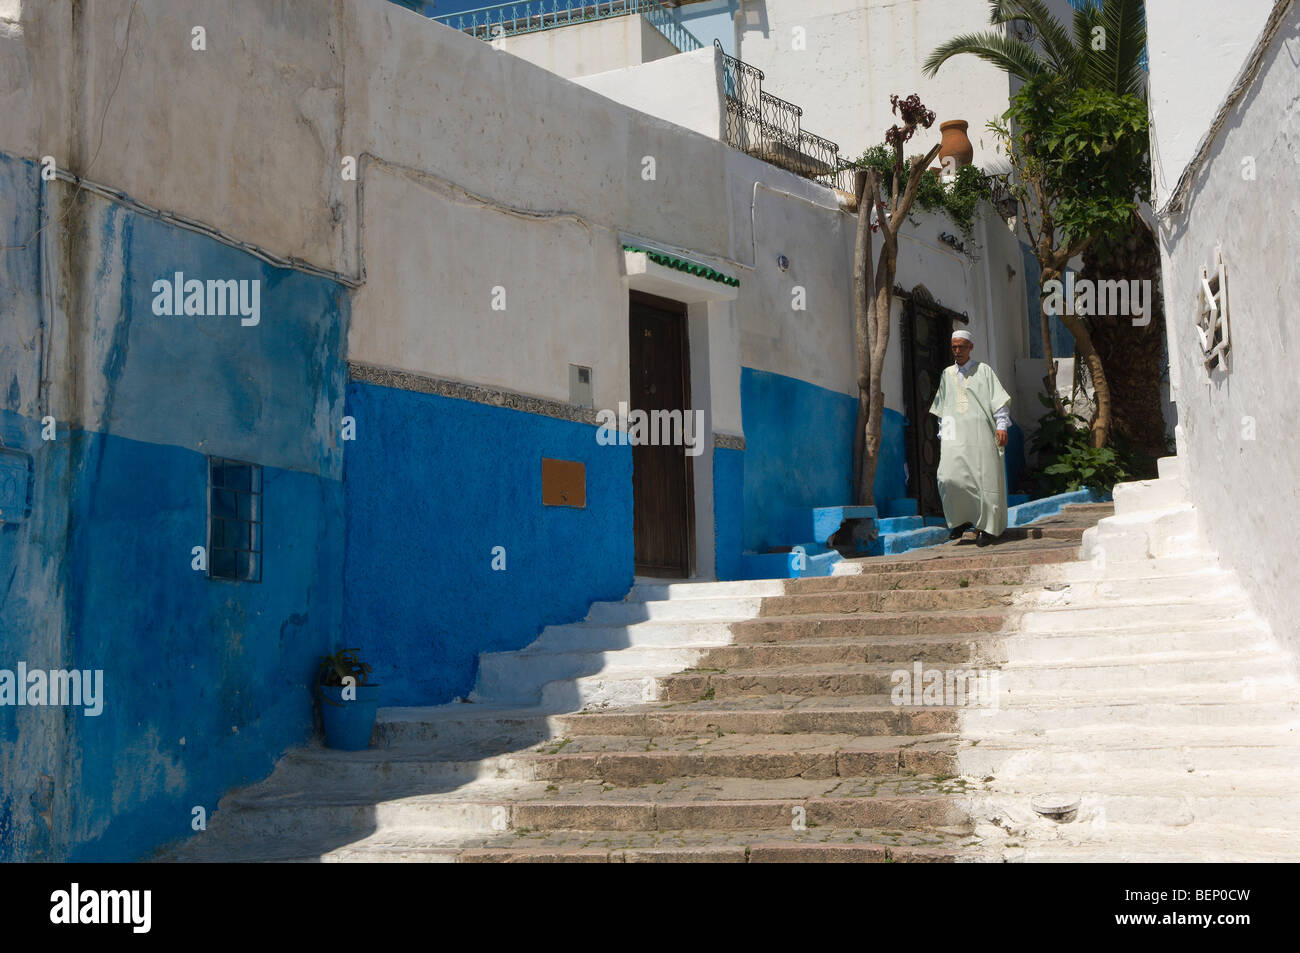
{"type": "Polygon", "coordinates": [[[718,40],[714,46],[727,98],[727,144],[798,176],[838,186],[845,168],[840,147],[803,129],[803,109],[764,92],[763,70],[723,52],[718,40]]]}

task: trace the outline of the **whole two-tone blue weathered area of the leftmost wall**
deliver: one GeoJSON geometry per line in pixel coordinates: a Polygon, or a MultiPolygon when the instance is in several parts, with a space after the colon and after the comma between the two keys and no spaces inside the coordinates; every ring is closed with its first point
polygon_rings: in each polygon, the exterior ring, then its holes
{"type": "MultiPolygon", "coordinates": [[[[6,243],[32,233],[34,173],[0,159],[6,243]]],[[[0,330],[0,426],[34,464],[30,519],[0,527],[0,667],[103,670],[105,698],[99,716],[0,707],[0,858],[133,859],[312,731],[316,660],[342,623],[347,296],[84,192],[49,239],[70,261],[78,355],[47,368],[52,442],[22,348],[39,243],[0,256],[17,315],[0,330]],[[155,316],[152,283],[176,270],[259,280],[260,325],[155,316]],[[265,467],[260,584],[190,567],[209,452],[265,467]]]]}

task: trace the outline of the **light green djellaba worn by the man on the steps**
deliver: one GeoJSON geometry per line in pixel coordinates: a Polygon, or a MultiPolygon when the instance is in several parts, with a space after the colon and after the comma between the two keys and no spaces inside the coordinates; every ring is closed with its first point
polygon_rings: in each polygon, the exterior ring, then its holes
{"type": "Polygon", "coordinates": [[[993,368],[980,361],[966,378],[949,364],[930,412],[939,417],[939,495],[949,527],[970,523],[989,536],[1006,529],[1006,469],[993,413],[1011,402],[993,368]]]}

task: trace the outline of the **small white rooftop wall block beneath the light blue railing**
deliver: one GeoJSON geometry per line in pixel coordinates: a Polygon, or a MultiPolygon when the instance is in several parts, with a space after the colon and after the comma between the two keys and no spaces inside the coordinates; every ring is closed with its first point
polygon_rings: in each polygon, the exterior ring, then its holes
{"type": "Polygon", "coordinates": [[[517,34],[495,40],[495,44],[562,77],[636,66],[677,52],[662,33],[640,16],[592,20],[555,30],[517,34]]]}

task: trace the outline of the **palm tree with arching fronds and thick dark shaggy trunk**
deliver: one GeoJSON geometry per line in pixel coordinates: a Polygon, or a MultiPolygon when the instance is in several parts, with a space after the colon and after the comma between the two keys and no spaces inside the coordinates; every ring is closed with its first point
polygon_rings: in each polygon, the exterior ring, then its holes
{"type": "MultiPolygon", "coordinates": [[[[1075,8],[1069,27],[1043,0],[989,0],[989,22],[1002,29],[954,36],[930,55],[926,74],[935,75],[954,56],[971,55],[1020,81],[1060,77],[1071,87],[1091,87],[1145,101],[1147,22],[1141,0],[1088,0],[1075,8]]],[[[1053,237],[1046,238],[1046,247],[1054,247],[1053,237]]],[[[1035,251],[1043,281],[1058,277],[1054,273],[1060,269],[1046,260],[1041,242],[1035,242],[1035,251]]],[[[1088,242],[1083,255],[1084,277],[1121,277],[1124,272],[1132,276],[1131,265],[1140,263],[1144,274],[1154,267],[1152,287],[1160,287],[1156,237],[1138,215],[1127,241],[1088,242]]],[[[1165,322],[1158,296],[1145,326],[1072,316],[1061,320],[1074,334],[1079,356],[1086,359],[1097,390],[1097,412],[1092,421],[1095,445],[1108,442],[1114,424],[1117,434],[1152,456],[1161,455],[1165,421],[1158,381],[1165,322]]],[[[1044,381],[1056,398],[1056,361],[1048,324],[1044,311],[1044,354],[1049,365],[1044,381]]]]}

